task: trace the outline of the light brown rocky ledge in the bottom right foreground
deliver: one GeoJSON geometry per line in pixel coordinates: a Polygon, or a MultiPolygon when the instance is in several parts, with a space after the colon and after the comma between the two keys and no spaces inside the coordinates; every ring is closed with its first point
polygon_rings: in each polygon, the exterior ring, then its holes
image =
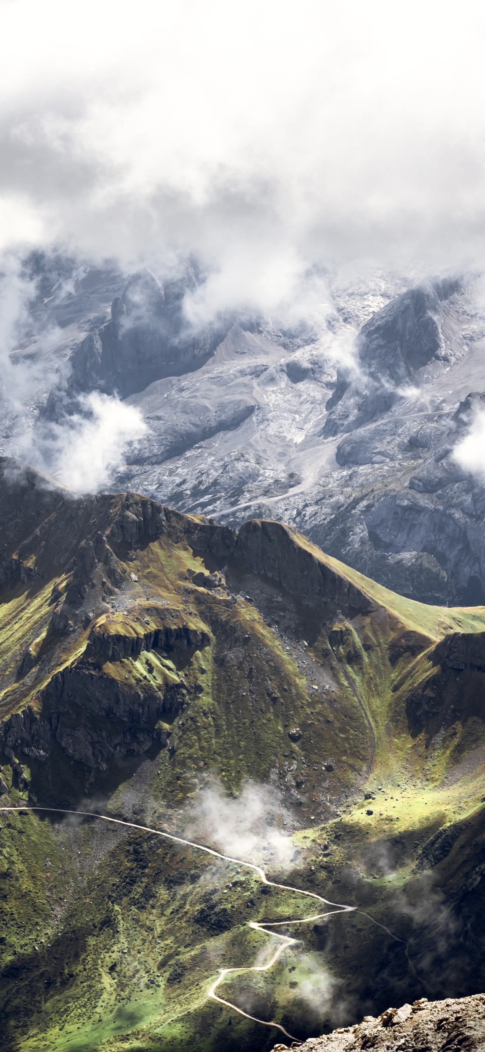
{"type": "MultiPolygon", "coordinates": [[[[296,1047],[294,1043],[291,1047],[296,1047]]],[[[399,1052],[474,1052],[485,1050],[485,994],[473,997],[422,997],[412,1005],[388,1008],[378,1018],[366,1015],[355,1027],[340,1027],[323,1037],[298,1046],[302,1052],[358,1052],[359,1049],[399,1052]]],[[[272,1052],[286,1052],[275,1045],[272,1052]]]]}

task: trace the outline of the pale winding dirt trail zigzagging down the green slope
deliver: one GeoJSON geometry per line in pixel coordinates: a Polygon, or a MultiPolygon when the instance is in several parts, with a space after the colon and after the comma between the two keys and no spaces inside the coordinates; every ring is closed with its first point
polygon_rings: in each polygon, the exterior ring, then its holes
{"type": "MultiPolygon", "coordinates": [[[[298,895],[305,895],[307,898],[316,898],[319,903],[324,903],[325,906],[332,906],[334,909],[326,910],[324,913],[315,913],[311,916],[299,917],[296,920],[270,920],[267,923],[265,923],[264,920],[260,922],[250,920],[249,928],[252,928],[255,931],[264,931],[266,935],[271,935],[272,937],[279,939],[279,945],[277,946],[275,953],[265,965],[254,965],[254,966],[248,966],[246,968],[221,968],[217,979],[214,980],[214,983],[207,990],[207,993],[204,998],[204,1000],[207,998],[216,1000],[220,1005],[224,1005],[226,1008],[233,1009],[233,1011],[237,1012],[239,1015],[243,1015],[246,1019],[251,1019],[254,1023],[259,1023],[263,1027],[275,1027],[277,1030],[280,1030],[281,1033],[283,1033],[285,1037],[288,1037],[291,1041],[298,1041],[299,1044],[301,1044],[301,1039],[299,1037],[295,1037],[294,1034],[289,1034],[288,1031],[285,1030],[285,1028],[282,1027],[280,1023],[267,1021],[266,1019],[258,1019],[257,1016],[249,1015],[249,1013],[244,1012],[242,1008],[238,1008],[238,1006],[234,1005],[233,1002],[225,1000],[223,997],[220,997],[216,991],[218,990],[221,983],[223,983],[226,976],[229,974],[268,971],[270,968],[272,968],[272,966],[276,964],[278,958],[281,956],[283,951],[288,946],[294,946],[299,942],[299,939],[297,938],[291,938],[290,935],[280,935],[276,931],[268,931],[267,930],[268,928],[280,928],[280,927],[287,928],[289,927],[289,925],[309,924],[311,920],[319,920],[322,919],[323,917],[331,916],[335,913],[362,912],[361,910],[358,910],[356,906],[347,906],[342,903],[330,903],[328,898],[323,898],[323,896],[318,895],[316,891],[305,891],[302,888],[294,888],[289,884],[278,884],[276,881],[268,881],[264,872],[264,869],[262,869],[261,866],[256,866],[255,863],[244,862],[242,858],[234,858],[233,855],[222,854],[221,851],[216,851],[214,848],[207,848],[204,844],[197,844],[195,841],[186,841],[184,839],[183,836],[176,836],[175,833],[167,833],[161,829],[154,829],[151,826],[141,826],[136,822],[125,822],[123,818],[112,818],[107,814],[98,814],[96,811],[74,811],[62,807],[23,807],[23,806],[0,807],[0,813],[5,811],[15,811],[19,814],[21,814],[22,811],[44,811],[48,812],[49,814],[53,813],[75,814],[87,818],[101,818],[103,822],[112,822],[117,826],[127,826],[129,829],[140,829],[145,833],[155,833],[157,836],[163,836],[165,839],[173,841],[175,844],[182,844],[184,845],[184,847],[196,848],[198,851],[204,851],[205,854],[213,855],[213,857],[215,858],[221,858],[223,862],[231,862],[235,863],[237,866],[241,867],[244,866],[246,869],[250,869],[255,873],[257,873],[261,882],[263,884],[268,885],[271,888],[282,888],[284,891],[295,891],[296,894],[298,895]]],[[[373,920],[373,918],[370,917],[368,914],[365,914],[365,916],[368,916],[369,920],[373,920]]],[[[373,923],[379,924],[379,922],[377,920],[373,920],[373,923]]],[[[379,925],[379,927],[384,927],[384,926],[379,925]]],[[[397,935],[393,935],[392,932],[390,932],[387,928],[385,930],[388,932],[391,938],[397,939],[397,935]]],[[[398,939],[398,942],[402,940],[398,939]]],[[[203,1004],[203,1002],[201,1002],[200,1004],[203,1004]]]]}

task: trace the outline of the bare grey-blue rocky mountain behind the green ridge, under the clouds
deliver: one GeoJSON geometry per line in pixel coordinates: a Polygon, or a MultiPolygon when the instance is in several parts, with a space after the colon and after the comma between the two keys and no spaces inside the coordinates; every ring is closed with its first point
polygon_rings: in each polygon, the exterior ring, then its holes
{"type": "Polygon", "coordinates": [[[40,255],[28,266],[38,295],[11,356],[4,454],[27,432],[49,470],[56,428],[89,411],[80,397],[118,394],[147,430],[114,491],[233,528],[277,518],[410,599],[485,601],[483,481],[454,459],[485,391],[472,276],[329,275],[321,316],[195,328],[191,264],[165,281],[40,255]]]}

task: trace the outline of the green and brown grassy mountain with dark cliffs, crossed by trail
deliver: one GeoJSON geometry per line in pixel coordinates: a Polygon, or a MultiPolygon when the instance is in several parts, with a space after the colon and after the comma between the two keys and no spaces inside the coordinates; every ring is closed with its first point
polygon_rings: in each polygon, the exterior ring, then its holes
{"type": "Polygon", "coordinates": [[[12,459],[0,551],[6,1049],[263,1052],[485,989],[485,608],[12,459]]]}

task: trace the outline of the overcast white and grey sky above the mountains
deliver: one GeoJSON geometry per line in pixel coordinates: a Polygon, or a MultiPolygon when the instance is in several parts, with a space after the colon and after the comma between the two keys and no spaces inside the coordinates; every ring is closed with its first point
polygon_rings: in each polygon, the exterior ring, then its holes
{"type": "Polygon", "coordinates": [[[209,308],[270,307],[315,263],[482,265],[477,2],[0,0],[0,248],[193,252],[209,308]]]}

